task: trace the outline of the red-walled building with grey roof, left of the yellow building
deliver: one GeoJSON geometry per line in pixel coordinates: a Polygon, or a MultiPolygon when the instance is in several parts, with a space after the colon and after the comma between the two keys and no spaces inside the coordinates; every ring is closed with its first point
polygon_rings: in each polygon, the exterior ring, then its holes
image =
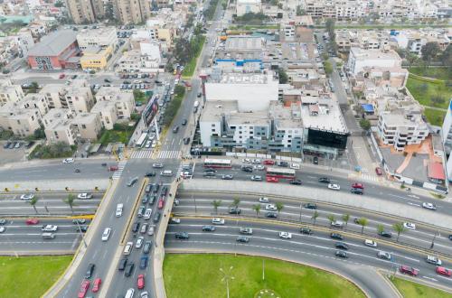
{"type": "Polygon", "coordinates": [[[28,64],[33,70],[62,70],[72,67],[70,59],[78,53],[76,34],[72,30],[58,30],[30,49],[28,64]]]}

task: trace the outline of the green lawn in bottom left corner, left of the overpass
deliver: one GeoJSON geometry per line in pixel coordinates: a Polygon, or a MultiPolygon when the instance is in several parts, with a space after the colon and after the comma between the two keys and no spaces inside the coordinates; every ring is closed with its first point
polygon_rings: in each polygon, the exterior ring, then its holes
{"type": "Polygon", "coordinates": [[[0,256],[0,297],[40,297],[71,259],[72,256],[0,256]]]}

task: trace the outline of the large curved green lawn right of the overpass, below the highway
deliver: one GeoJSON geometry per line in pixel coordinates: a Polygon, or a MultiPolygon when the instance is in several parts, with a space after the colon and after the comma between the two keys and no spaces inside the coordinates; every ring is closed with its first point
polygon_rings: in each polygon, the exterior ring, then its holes
{"type": "Polygon", "coordinates": [[[364,297],[347,280],[306,265],[265,259],[265,281],[262,281],[262,259],[254,256],[173,255],[164,262],[165,289],[168,298],[221,298],[226,287],[221,282],[220,268],[231,266],[231,297],[252,298],[262,289],[270,289],[279,297],[364,297]]]}

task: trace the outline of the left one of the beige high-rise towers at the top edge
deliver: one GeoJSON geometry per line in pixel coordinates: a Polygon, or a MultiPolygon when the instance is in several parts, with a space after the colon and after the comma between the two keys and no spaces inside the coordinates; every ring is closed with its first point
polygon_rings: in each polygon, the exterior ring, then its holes
{"type": "Polygon", "coordinates": [[[102,0],[66,0],[66,7],[74,23],[95,23],[105,14],[102,0]]]}

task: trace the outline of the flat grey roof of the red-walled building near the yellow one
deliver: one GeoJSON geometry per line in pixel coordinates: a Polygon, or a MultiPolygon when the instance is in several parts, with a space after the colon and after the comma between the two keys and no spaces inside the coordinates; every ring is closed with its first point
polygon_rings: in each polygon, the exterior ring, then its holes
{"type": "Polygon", "coordinates": [[[29,52],[29,56],[58,56],[71,43],[76,42],[76,34],[72,30],[59,30],[44,36],[29,52]]]}

